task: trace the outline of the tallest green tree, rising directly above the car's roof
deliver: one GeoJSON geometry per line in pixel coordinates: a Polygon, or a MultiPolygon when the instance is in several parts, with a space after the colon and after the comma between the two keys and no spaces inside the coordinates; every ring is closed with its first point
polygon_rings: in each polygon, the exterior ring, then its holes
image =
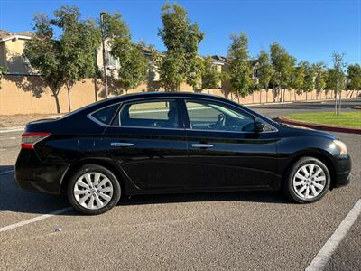
{"type": "Polygon", "coordinates": [[[187,11],[176,3],[163,5],[162,24],[158,35],[167,48],[159,60],[162,87],[166,91],[178,91],[180,84],[187,82],[196,89],[201,76],[198,48],[204,34],[197,23],[190,23],[187,11]]]}

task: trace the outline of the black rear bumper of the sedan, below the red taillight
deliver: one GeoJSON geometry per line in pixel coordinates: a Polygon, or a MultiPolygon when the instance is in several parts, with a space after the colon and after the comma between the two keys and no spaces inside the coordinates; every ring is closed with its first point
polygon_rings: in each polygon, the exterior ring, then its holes
{"type": "Polygon", "coordinates": [[[15,164],[15,182],[23,190],[60,194],[66,164],[43,164],[34,150],[22,149],[15,164]]]}

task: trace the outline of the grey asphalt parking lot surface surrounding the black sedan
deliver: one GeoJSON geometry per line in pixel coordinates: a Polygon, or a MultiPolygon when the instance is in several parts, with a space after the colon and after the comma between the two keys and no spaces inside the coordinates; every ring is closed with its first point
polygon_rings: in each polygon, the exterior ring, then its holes
{"type": "MultiPolygon", "coordinates": [[[[276,117],[287,114],[286,108],[316,107],[304,104],[255,109],[276,117]]],[[[64,198],[16,187],[21,134],[0,134],[1,270],[303,270],[361,195],[361,135],[336,134],[351,155],[352,182],[316,203],[293,204],[280,192],[134,196],[87,217],[64,198]],[[28,223],[17,227],[22,221],[28,223]]],[[[326,270],[361,269],[360,232],[361,217],[326,270]]]]}

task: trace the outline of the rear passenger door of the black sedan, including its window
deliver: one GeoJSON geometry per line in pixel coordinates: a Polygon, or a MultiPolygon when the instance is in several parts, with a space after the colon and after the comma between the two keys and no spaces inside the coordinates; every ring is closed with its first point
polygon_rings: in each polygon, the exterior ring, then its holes
{"type": "Polygon", "coordinates": [[[143,190],[181,190],[188,153],[177,99],[122,104],[102,145],[143,190]]]}

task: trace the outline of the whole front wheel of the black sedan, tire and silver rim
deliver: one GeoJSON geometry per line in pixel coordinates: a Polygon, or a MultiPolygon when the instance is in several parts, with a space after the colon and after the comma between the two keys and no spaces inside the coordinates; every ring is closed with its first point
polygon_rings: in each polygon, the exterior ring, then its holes
{"type": "Polygon", "coordinates": [[[329,169],[325,164],[314,157],[302,157],[286,173],[283,192],[292,201],[315,202],[329,191],[330,182],[329,169]]]}

